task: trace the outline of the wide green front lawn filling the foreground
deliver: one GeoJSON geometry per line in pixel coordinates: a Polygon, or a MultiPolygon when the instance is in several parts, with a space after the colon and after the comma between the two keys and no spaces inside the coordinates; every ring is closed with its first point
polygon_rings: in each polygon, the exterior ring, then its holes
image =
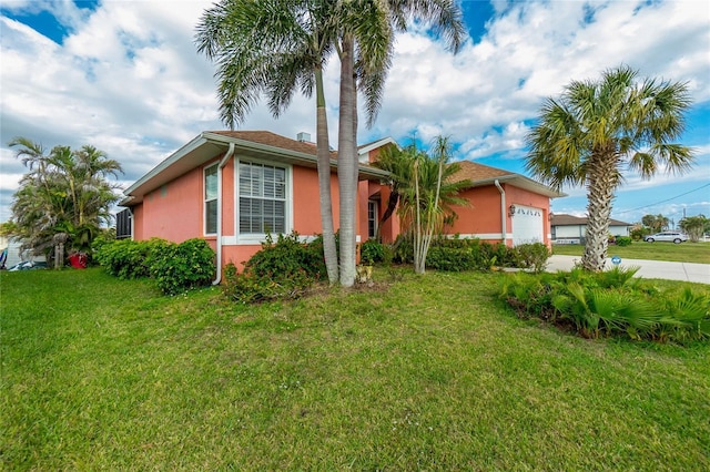
{"type": "Polygon", "coordinates": [[[250,308],[1,273],[0,468],[710,469],[710,346],[524,321],[497,277],[250,308]]]}

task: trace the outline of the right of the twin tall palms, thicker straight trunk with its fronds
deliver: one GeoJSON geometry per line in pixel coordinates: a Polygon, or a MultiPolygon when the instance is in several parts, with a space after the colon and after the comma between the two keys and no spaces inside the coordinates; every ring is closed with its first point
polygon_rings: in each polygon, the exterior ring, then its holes
{"type": "Polygon", "coordinates": [[[338,186],[341,199],[341,285],[355,281],[357,194],[357,92],[365,98],[367,124],[375,121],[392,63],[396,32],[407,19],[429,22],[458,51],[465,34],[460,8],[453,0],[372,0],[338,2],[341,33],[338,186]]]}

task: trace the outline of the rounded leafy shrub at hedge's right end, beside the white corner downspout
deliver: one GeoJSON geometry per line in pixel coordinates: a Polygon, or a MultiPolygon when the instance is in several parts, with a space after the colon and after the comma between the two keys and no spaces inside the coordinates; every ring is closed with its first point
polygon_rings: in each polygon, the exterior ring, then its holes
{"type": "Polygon", "coordinates": [[[148,256],[151,277],[165,295],[178,295],[211,284],[215,275],[215,254],[201,238],[180,244],[156,245],[148,256]]]}

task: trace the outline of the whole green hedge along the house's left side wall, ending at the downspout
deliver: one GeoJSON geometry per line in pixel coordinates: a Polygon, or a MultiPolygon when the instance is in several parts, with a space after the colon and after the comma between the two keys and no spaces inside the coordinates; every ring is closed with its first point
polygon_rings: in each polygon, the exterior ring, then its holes
{"type": "Polygon", "coordinates": [[[104,242],[97,247],[95,259],[121,279],[151,277],[166,295],[210,285],[215,275],[214,250],[200,238],[180,244],[159,238],[104,242]]]}

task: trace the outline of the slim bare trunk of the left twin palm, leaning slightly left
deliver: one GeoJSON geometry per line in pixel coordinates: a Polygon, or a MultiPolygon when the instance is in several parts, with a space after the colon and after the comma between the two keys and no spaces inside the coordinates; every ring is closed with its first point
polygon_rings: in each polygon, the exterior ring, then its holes
{"type": "Polygon", "coordinates": [[[333,228],[333,202],[331,199],[331,145],[328,120],[323,91],[323,69],[315,70],[316,92],[316,146],[318,154],[318,193],[321,203],[321,226],[323,228],[323,256],[331,285],[337,283],[337,249],[333,228]]]}

